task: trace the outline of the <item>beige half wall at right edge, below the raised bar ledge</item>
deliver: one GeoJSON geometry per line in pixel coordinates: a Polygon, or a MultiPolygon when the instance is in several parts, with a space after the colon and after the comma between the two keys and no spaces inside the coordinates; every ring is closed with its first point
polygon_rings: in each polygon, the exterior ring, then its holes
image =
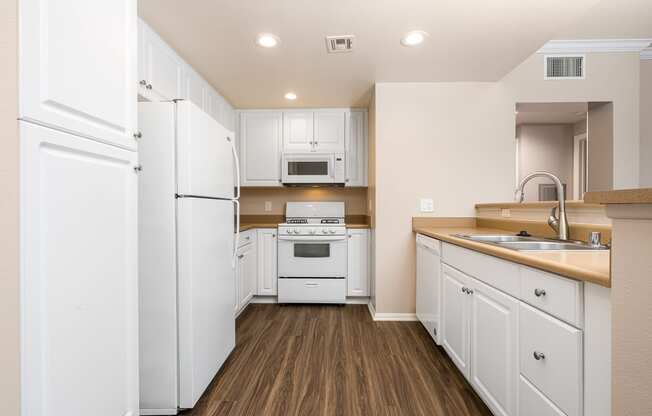
{"type": "Polygon", "coordinates": [[[613,218],[613,415],[652,415],[652,205],[644,207],[607,209],[613,218]]]}

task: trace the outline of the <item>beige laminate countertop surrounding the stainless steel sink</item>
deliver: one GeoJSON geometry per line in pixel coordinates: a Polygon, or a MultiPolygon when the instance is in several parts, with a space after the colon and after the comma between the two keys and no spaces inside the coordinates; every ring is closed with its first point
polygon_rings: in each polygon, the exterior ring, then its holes
{"type": "Polygon", "coordinates": [[[469,248],[494,257],[535,267],[551,273],[611,287],[610,250],[603,251],[516,251],[464,240],[453,234],[514,234],[495,228],[416,226],[414,231],[437,240],[469,248]]]}

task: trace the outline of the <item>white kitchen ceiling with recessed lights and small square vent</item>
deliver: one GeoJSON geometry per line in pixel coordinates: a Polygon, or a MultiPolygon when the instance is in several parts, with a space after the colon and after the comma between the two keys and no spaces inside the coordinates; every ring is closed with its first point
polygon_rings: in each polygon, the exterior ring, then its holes
{"type": "Polygon", "coordinates": [[[334,107],[366,106],[374,82],[498,80],[597,3],[140,0],[139,14],[235,107],[334,107]],[[427,42],[401,46],[414,29],[427,42]],[[280,47],[256,46],[261,32],[280,47]],[[341,34],[356,36],[354,52],[326,53],[324,37],[341,34]]]}

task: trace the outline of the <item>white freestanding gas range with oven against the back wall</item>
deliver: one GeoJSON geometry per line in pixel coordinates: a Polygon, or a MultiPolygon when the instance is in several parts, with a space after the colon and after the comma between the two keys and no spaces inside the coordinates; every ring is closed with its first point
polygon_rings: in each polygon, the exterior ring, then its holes
{"type": "Polygon", "coordinates": [[[344,202],[288,202],[278,226],[279,303],[345,303],[344,202]]]}

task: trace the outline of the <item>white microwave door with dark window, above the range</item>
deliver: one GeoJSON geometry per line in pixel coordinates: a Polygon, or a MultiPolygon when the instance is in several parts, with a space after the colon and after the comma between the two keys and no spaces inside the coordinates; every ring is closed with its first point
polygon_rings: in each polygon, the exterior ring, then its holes
{"type": "Polygon", "coordinates": [[[283,154],[283,183],[333,183],[334,157],[333,154],[283,154]]]}

